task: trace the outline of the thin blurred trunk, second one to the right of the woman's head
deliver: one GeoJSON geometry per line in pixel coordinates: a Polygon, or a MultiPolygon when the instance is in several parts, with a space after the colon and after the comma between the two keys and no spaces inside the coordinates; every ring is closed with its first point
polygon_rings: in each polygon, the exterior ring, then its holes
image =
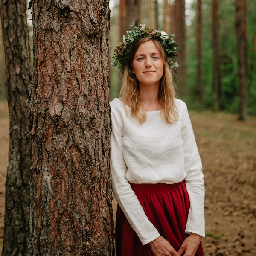
{"type": "Polygon", "coordinates": [[[200,108],[204,109],[204,82],[203,82],[203,63],[202,63],[202,15],[201,0],[197,1],[197,20],[196,20],[196,42],[198,56],[198,87],[200,90],[200,108]]]}

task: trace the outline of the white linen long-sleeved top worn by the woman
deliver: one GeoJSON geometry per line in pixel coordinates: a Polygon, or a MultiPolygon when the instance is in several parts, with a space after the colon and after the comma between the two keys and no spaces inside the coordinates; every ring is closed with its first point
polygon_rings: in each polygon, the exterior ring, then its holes
{"type": "Polygon", "coordinates": [[[115,98],[110,102],[111,184],[116,200],[142,244],[160,234],[148,220],[129,183],[186,183],[190,209],[186,233],[204,236],[204,175],[186,104],[175,99],[179,119],[167,124],[161,111],[143,124],[115,98]]]}

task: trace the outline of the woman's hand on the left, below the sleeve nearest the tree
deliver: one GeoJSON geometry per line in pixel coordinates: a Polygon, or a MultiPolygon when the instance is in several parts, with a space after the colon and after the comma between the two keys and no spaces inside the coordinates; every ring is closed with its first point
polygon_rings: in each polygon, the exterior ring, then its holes
{"type": "Polygon", "coordinates": [[[157,237],[148,244],[155,256],[180,256],[163,236],[157,237]]]}

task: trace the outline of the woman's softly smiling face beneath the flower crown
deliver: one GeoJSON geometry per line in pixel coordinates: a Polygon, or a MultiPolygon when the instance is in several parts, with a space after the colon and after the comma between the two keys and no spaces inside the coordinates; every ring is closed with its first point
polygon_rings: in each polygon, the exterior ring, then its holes
{"type": "Polygon", "coordinates": [[[140,45],[132,62],[132,73],[140,86],[159,85],[163,76],[164,63],[154,41],[146,41],[140,45]]]}

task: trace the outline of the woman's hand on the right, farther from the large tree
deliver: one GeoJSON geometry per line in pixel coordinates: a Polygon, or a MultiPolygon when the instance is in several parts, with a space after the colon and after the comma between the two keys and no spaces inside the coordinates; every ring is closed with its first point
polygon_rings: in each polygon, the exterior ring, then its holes
{"type": "Polygon", "coordinates": [[[191,233],[191,235],[188,236],[181,244],[180,250],[178,250],[178,254],[184,256],[195,256],[200,241],[201,236],[195,233],[191,233]]]}

